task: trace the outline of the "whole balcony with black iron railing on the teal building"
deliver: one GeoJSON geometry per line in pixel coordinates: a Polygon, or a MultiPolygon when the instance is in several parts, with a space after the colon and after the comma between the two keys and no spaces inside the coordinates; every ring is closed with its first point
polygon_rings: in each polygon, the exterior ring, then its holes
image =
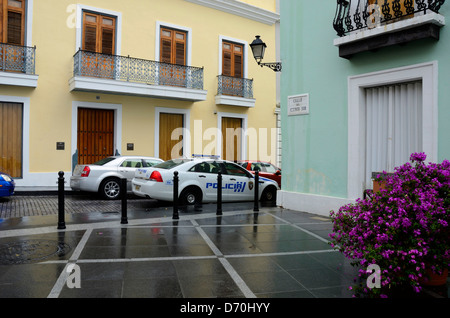
{"type": "Polygon", "coordinates": [[[445,0],[337,0],[333,27],[339,56],[377,51],[420,39],[438,41],[445,0]]]}

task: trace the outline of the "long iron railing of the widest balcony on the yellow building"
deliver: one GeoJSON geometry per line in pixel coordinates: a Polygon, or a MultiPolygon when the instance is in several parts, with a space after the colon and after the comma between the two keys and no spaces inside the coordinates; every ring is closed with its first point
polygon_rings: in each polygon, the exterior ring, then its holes
{"type": "Polygon", "coordinates": [[[203,89],[203,68],[79,50],[74,76],[203,89]]]}

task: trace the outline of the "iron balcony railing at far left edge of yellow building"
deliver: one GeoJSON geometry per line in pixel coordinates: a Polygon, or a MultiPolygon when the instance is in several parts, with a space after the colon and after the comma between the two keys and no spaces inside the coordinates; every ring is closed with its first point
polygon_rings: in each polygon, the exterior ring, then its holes
{"type": "Polygon", "coordinates": [[[36,47],[0,43],[0,71],[35,75],[36,47]]]}

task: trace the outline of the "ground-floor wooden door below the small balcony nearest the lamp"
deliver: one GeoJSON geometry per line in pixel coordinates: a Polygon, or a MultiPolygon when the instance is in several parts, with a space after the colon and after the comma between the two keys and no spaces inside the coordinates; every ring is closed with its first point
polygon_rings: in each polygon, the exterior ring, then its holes
{"type": "Polygon", "coordinates": [[[241,159],[242,119],[222,117],[222,159],[241,159]]]}

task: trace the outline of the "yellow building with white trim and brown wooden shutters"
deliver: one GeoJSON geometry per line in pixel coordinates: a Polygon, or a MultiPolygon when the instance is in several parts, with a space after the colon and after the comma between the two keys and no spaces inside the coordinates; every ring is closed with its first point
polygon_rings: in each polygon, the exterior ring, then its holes
{"type": "Polygon", "coordinates": [[[0,0],[0,21],[0,170],[17,189],[117,154],[275,162],[276,73],[249,46],[276,60],[275,0],[0,0]]]}

